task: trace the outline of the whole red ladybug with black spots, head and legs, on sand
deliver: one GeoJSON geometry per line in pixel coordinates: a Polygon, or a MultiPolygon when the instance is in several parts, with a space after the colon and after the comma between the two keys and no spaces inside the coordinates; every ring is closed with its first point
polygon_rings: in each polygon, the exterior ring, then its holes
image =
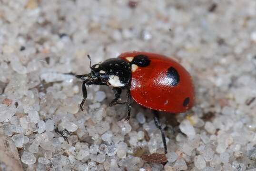
{"type": "Polygon", "coordinates": [[[90,69],[89,74],[77,76],[83,80],[84,99],[80,109],[83,110],[87,98],[85,85],[112,87],[115,98],[109,106],[125,104],[127,121],[130,118],[131,99],[153,110],[154,121],[161,131],[167,153],[166,139],[159,123],[158,111],[181,113],[193,106],[194,86],[187,70],[171,58],[137,51],[123,53],[117,58],[110,58],[93,66],[90,60],[90,69]],[[123,89],[127,89],[125,102],[121,102],[120,99],[123,89]]]}

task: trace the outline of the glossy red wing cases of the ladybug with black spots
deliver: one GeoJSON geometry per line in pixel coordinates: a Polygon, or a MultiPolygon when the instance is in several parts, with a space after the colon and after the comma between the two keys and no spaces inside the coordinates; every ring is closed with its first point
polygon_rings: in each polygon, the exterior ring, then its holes
{"type": "Polygon", "coordinates": [[[153,110],[181,113],[194,104],[194,86],[187,70],[173,59],[148,52],[127,52],[119,58],[147,56],[148,66],[135,66],[131,76],[131,97],[153,110]],[[137,68],[137,69],[136,69],[137,68]]]}

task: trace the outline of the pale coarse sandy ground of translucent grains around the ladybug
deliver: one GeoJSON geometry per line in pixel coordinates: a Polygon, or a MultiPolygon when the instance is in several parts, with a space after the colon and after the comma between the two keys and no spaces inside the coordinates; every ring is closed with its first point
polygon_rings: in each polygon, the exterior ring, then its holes
{"type": "Polygon", "coordinates": [[[255,99],[255,0],[0,0],[0,145],[15,156],[1,170],[256,171],[255,99]],[[134,103],[123,122],[96,85],[82,112],[66,74],[133,50],[194,81],[195,106],[161,114],[166,157],[150,110],[134,103]]]}

